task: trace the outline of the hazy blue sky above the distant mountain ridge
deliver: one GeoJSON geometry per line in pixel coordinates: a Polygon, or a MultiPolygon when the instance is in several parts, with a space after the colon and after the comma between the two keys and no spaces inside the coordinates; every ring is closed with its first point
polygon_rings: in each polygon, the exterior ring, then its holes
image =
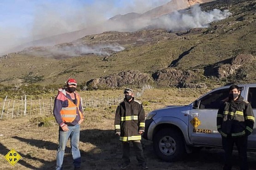
{"type": "Polygon", "coordinates": [[[32,40],[143,13],[170,0],[0,0],[0,54],[32,40]]]}

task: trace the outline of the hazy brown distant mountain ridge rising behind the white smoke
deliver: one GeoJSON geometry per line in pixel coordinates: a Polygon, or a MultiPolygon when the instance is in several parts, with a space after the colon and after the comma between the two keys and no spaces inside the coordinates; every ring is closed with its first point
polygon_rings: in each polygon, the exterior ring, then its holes
{"type": "Polygon", "coordinates": [[[156,7],[150,11],[147,11],[143,14],[138,14],[135,12],[128,13],[125,15],[117,15],[110,18],[108,21],[98,24],[98,25],[91,25],[87,28],[82,30],[77,30],[70,33],[55,35],[51,37],[47,37],[41,40],[35,40],[24,45],[20,45],[15,47],[11,51],[20,51],[25,47],[29,46],[40,46],[40,45],[56,45],[65,42],[71,42],[73,40],[77,40],[82,38],[83,36],[90,35],[90,34],[100,34],[104,31],[137,31],[137,28],[129,28],[134,24],[132,20],[136,19],[135,23],[138,21],[142,21],[145,19],[152,19],[155,17],[160,17],[162,15],[171,13],[173,11],[178,11],[180,9],[187,8],[189,6],[195,4],[201,4],[212,0],[171,0],[167,4],[163,6],[156,7]],[[128,23],[128,25],[126,25],[128,23]],[[131,23],[131,24],[129,24],[131,23]],[[120,27],[120,25],[125,25],[125,28],[120,27]]]}

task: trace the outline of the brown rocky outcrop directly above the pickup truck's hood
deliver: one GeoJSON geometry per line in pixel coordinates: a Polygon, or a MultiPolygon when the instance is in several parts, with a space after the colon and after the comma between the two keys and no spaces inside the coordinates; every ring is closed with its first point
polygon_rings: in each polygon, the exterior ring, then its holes
{"type": "MultiPolygon", "coordinates": [[[[192,83],[199,79],[200,70],[178,70],[174,68],[167,68],[153,74],[153,79],[158,86],[161,87],[200,87],[204,85],[196,85],[192,83]]],[[[201,74],[202,75],[202,74],[201,74]]]]}

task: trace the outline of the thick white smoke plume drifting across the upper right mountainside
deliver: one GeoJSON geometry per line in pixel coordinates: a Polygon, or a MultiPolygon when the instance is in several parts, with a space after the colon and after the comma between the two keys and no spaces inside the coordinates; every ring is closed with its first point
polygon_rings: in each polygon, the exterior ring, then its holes
{"type": "MultiPolygon", "coordinates": [[[[115,31],[134,32],[140,29],[166,29],[171,31],[187,30],[191,28],[206,28],[209,23],[220,21],[232,15],[228,10],[214,9],[212,11],[202,11],[199,5],[192,6],[191,9],[185,11],[174,11],[155,19],[133,19],[129,23],[117,23],[112,21],[111,24],[116,25],[115,31]]],[[[107,27],[105,27],[107,28],[107,27]]]]}

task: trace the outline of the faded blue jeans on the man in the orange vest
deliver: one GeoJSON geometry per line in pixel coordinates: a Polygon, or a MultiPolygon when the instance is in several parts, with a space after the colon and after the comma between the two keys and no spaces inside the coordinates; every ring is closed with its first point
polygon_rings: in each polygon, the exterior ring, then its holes
{"type": "Polygon", "coordinates": [[[73,164],[75,167],[81,166],[81,155],[78,148],[79,136],[80,136],[80,125],[68,126],[68,131],[59,130],[59,146],[57,150],[57,164],[56,170],[62,170],[62,163],[65,154],[65,147],[68,139],[70,138],[71,152],[73,157],[73,164]]]}

